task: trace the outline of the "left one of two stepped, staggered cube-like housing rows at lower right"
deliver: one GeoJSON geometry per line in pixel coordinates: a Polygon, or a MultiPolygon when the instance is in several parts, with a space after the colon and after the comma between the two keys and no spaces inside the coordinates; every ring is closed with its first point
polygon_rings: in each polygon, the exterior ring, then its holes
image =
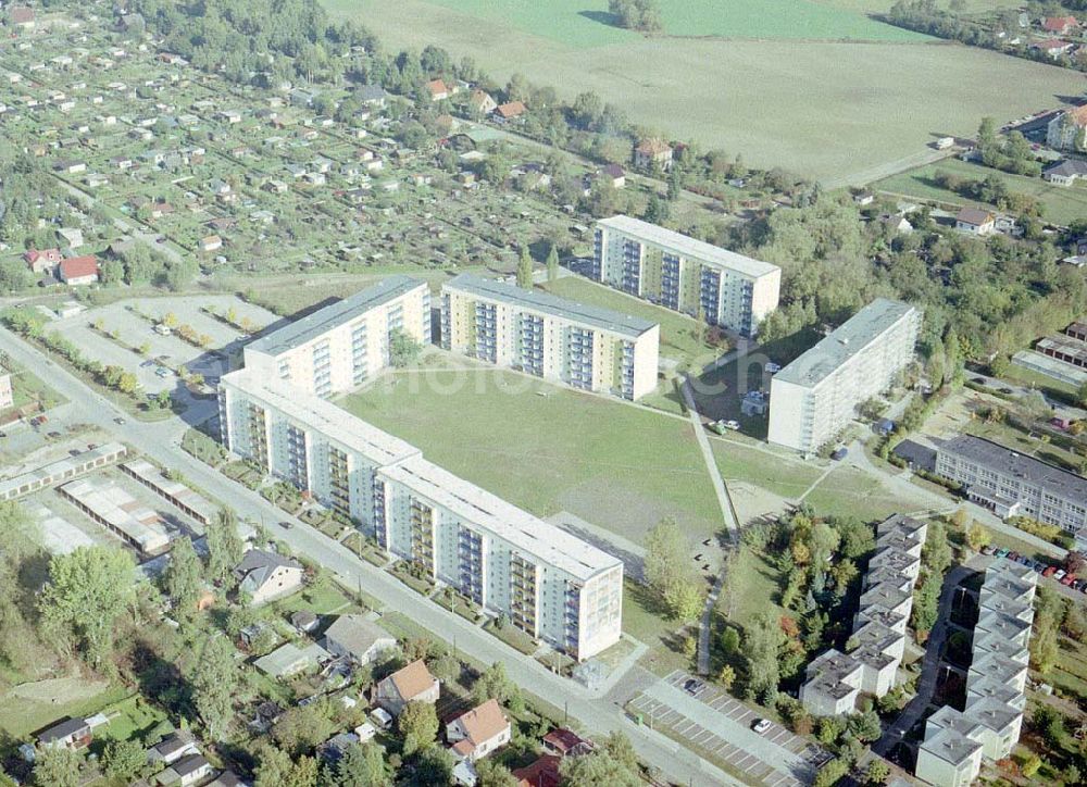
{"type": "Polygon", "coordinates": [[[876,551],[864,575],[851,649],[828,650],[808,665],[800,701],[810,713],[852,713],[861,694],[883,697],[895,686],[927,534],[924,522],[900,514],[876,526],[876,551]]]}

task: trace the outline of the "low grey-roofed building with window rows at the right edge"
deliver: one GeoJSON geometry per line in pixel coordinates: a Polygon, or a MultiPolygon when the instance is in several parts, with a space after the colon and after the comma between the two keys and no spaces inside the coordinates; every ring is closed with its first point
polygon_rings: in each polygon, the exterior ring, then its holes
{"type": "Polygon", "coordinates": [[[1087,547],[1087,478],[980,437],[936,444],[936,473],[998,516],[1057,525],[1087,547]]]}

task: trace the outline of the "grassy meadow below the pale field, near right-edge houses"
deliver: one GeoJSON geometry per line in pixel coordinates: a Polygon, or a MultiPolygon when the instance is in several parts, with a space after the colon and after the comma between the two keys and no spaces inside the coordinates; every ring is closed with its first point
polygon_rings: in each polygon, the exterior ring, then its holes
{"type": "MultiPolygon", "coordinates": [[[[1009,189],[1036,198],[1045,207],[1046,218],[1058,224],[1070,224],[1087,216],[1087,188],[1051,186],[1040,177],[1009,175],[979,164],[970,164],[958,159],[947,159],[938,164],[910,170],[875,184],[880,191],[909,195],[921,199],[938,200],[951,204],[984,204],[960,197],[954,191],[939,187],[933,179],[937,171],[947,172],[962,178],[978,180],[995,175],[1008,184],[1009,189]]],[[[996,208],[996,205],[990,205],[996,208]]]]}

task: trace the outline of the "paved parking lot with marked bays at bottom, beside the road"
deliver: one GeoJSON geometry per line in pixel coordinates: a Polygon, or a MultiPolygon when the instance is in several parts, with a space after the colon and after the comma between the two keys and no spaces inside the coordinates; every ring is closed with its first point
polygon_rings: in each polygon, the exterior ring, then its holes
{"type": "Polygon", "coordinates": [[[727,763],[745,777],[787,787],[811,782],[820,751],[779,724],[759,735],[751,729],[759,715],[724,691],[699,682],[684,689],[692,676],[674,672],[635,698],[629,708],[644,723],[667,727],[710,757],[727,763]]]}

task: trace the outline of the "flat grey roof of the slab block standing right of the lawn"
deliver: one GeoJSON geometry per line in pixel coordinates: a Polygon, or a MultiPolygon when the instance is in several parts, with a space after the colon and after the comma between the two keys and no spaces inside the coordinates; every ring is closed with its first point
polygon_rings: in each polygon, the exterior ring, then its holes
{"type": "Polygon", "coordinates": [[[912,311],[915,309],[909,303],[876,298],[774,375],[774,379],[812,388],[912,311]]]}

